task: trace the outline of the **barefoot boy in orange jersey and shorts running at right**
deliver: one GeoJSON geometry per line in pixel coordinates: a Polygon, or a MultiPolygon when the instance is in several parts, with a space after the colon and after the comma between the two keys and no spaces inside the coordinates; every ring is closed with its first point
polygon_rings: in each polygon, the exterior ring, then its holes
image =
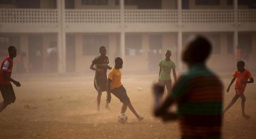
{"type": "Polygon", "coordinates": [[[245,105],[245,96],[244,96],[244,90],[246,87],[247,83],[253,83],[254,80],[251,76],[251,73],[249,70],[244,69],[245,63],[244,61],[239,61],[237,62],[237,71],[235,71],[233,73],[233,79],[231,80],[228,88],[227,88],[227,93],[229,92],[230,86],[232,85],[232,83],[237,79],[236,81],[236,85],[235,85],[235,91],[236,91],[236,95],[234,96],[234,98],[232,99],[232,101],[227,105],[227,108],[224,110],[223,113],[225,113],[237,100],[239,97],[241,97],[242,100],[242,115],[244,118],[249,119],[250,116],[245,114],[244,112],[244,105],[245,105]],[[250,79],[248,81],[248,79],[250,79]]]}

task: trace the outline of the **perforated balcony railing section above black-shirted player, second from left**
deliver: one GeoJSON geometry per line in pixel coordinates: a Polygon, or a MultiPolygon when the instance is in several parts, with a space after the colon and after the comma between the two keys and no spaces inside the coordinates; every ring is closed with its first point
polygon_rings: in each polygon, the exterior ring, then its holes
{"type": "Polygon", "coordinates": [[[66,23],[120,23],[120,10],[65,10],[66,23]]]}

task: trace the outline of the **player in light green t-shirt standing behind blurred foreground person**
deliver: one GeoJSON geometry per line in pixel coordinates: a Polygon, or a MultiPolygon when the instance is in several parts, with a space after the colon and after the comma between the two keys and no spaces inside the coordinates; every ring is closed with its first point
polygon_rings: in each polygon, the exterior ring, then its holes
{"type": "MultiPolygon", "coordinates": [[[[161,60],[159,62],[160,70],[159,70],[159,77],[158,77],[158,83],[166,86],[167,93],[170,93],[171,89],[171,69],[173,71],[173,78],[176,82],[177,75],[176,75],[176,65],[175,63],[170,59],[171,57],[171,51],[167,50],[165,52],[165,59],[161,60]]],[[[162,96],[161,96],[162,97],[162,96]]]]}

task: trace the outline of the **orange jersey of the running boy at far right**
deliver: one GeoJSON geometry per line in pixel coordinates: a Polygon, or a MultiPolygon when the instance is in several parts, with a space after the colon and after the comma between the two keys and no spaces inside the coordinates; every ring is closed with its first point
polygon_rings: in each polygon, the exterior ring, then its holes
{"type": "Polygon", "coordinates": [[[237,78],[235,89],[241,89],[243,92],[246,87],[246,83],[241,83],[241,81],[248,81],[248,79],[252,79],[251,73],[249,70],[244,70],[244,72],[235,71],[233,73],[233,77],[237,78]]]}

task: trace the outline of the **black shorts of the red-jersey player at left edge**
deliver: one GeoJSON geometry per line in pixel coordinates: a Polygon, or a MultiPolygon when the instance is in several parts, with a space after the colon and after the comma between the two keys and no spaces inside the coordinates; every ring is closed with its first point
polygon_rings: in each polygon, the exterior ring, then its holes
{"type": "Polygon", "coordinates": [[[0,91],[6,104],[15,102],[16,97],[11,84],[0,84],[0,91]]]}

